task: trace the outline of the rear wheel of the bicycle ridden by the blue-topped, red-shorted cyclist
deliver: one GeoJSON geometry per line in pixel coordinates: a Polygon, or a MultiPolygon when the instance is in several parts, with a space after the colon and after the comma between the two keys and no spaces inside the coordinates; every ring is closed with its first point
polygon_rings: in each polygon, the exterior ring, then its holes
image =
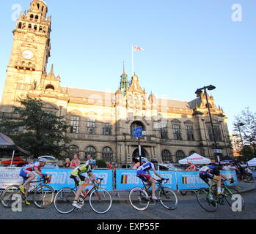
{"type": "Polygon", "coordinates": [[[148,205],[150,205],[150,197],[147,195],[147,192],[139,187],[131,189],[129,201],[137,211],[145,211],[148,205]]]}

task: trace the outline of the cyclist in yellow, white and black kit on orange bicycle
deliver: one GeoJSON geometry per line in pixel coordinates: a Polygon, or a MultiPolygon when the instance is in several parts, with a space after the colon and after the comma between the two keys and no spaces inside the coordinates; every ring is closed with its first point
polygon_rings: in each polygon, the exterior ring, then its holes
{"type": "Polygon", "coordinates": [[[78,186],[78,189],[76,191],[76,197],[73,202],[73,206],[75,206],[78,209],[81,209],[81,207],[77,203],[78,199],[81,195],[81,192],[83,192],[87,184],[89,184],[89,181],[92,181],[92,182],[95,181],[98,185],[100,185],[100,182],[96,180],[95,176],[92,173],[92,169],[95,167],[96,162],[93,159],[90,159],[89,163],[88,164],[87,163],[76,167],[76,169],[72,171],[70,176],[70,178],[73,178],[73,180],[75,181],[76,186],[78,186]],[[84,174],[84,173],[87,173],[89,178],[85,176],[81,176],[81,174],[84,174]],[[85,184],[83,184],[83,181],[85,182],[85,184]]]}

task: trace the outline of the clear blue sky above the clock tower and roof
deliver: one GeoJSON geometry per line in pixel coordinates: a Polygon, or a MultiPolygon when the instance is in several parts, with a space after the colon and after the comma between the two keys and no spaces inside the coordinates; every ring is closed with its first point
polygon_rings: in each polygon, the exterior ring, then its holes
{"type": "MultiPolygon", "coordinates": [[[[211,91],[229,118],[255,111],[255,0],[45,0],[52,15],[51,59],[62,86],[116,91],[122,62],[131,77],[131,45],[142,88],[157,97],[191,101],[197,88],[211,91]],[[233,4],[242,21],[234,22],[233,4]]],[[[12,49],[13,4],[0,1],[0,95],[12,49]]]]}

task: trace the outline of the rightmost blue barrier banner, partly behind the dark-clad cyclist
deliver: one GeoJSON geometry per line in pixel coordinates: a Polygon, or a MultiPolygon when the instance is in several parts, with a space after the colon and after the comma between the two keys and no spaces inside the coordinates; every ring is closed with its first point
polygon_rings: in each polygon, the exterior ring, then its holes
{"type": "MultiPolygon", "coordinates": [[[[178,181],[178,189],[179,190],[197,190],[202,188],[208,188],[208,184],[199,176],[199,172],[192,172],[192,171],[177,171],[177,181],[178,181]]],[[[233,170],[223,170],[221,173],[226,176],[227,178],[233,177],[235,183],[230,184],[229,182],[225,181],[227,186],[233,186],[238,184],[238,178],[236,176],[235,171],[233,170]]]]}

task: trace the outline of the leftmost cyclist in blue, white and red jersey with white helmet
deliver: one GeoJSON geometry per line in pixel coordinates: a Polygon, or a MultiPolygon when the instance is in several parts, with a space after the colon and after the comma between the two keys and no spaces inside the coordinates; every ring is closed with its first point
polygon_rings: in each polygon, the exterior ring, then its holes
{"type": "MultiPolygon", "coordinates": [[[[29,165],[25,165],[21,168],[20,176],[23,178],[23,185],[18,188],[21,190],[23,195],[27,195],[30,182],[34,180],[34,178],[39,175],[42,178],[45,178],[47,175],[42,173],[41,168],[45,166],[47,160],[39,159],[38,162],[30,162],[29,165]]],[[[30,205],[29,202],[25,201],[26,205],[30,205]]]]}

